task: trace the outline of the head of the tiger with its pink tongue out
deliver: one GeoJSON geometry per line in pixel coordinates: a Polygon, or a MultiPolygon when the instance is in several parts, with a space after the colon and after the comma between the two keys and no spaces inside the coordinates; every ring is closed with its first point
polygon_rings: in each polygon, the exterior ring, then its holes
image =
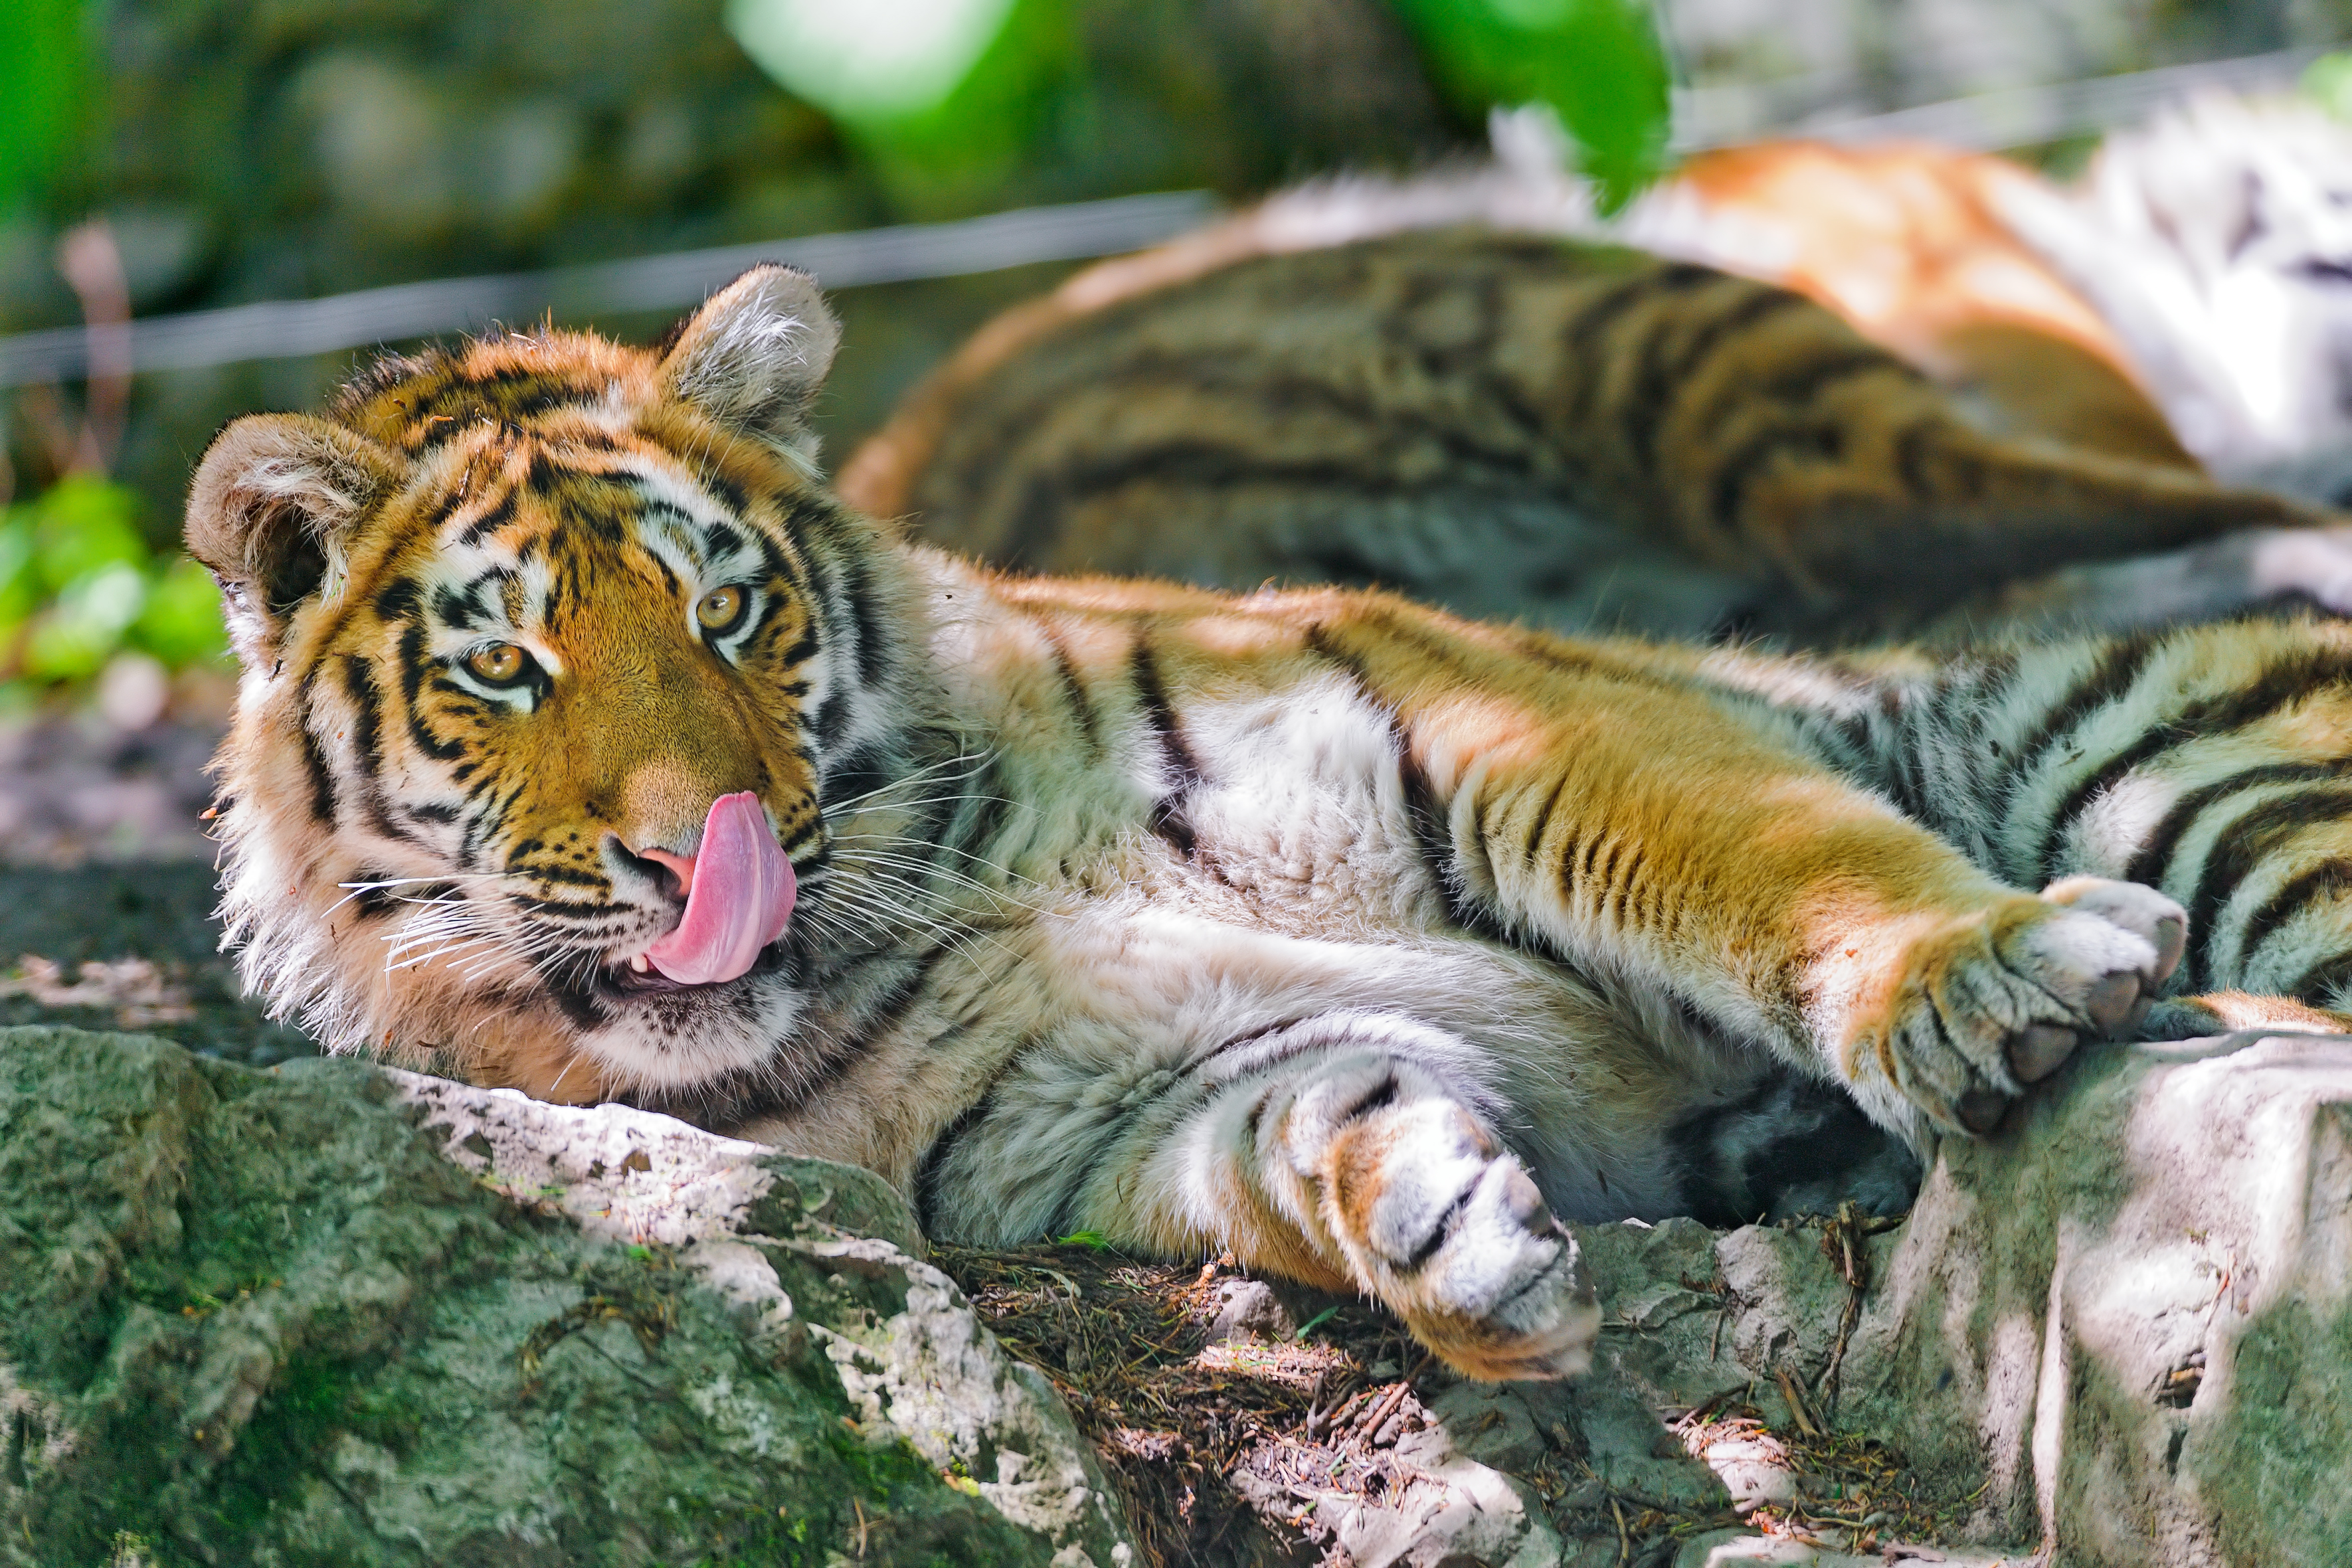
{"type": "Polygon", "coordinates": [[[562,1100],[795,1074],[917,616],[816,477],[837,336],[760,268],[654,350],[492,336],[221,430],[223,914],[278,1016],[562,1100]]]}

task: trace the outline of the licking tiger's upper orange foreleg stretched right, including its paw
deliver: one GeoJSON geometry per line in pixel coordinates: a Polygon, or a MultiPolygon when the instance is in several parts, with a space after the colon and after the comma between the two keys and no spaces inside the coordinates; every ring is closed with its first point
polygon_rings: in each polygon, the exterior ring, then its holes
{"type": "Polygon", "coordinates": [[[2006,886],[1766,724],[1635,679],[1618,649],[1552,649],[1517,689],[1491,663],[1458,701],[1414,651],[1350,630],[1327,621],[1322,646],[1399,693],[1430,851],[1465,903],[1846,1084],[1879,1126],[1990,1131],[2180,959],[2164,893],[2006,886]]]}

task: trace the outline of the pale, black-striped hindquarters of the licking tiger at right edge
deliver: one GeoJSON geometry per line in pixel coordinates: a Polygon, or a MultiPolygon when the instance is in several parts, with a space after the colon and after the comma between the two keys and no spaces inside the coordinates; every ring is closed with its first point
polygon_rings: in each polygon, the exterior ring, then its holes
{"type": "Polygon", "coordinates": [[[2016,882],[2190,912],[2143,1039],[2352,1032],[2352,637],[2326,621],[1743,663],[1839,771],[2016,882]],[[1823,679],[1828,677],[1828,679],[1823,679]]]}

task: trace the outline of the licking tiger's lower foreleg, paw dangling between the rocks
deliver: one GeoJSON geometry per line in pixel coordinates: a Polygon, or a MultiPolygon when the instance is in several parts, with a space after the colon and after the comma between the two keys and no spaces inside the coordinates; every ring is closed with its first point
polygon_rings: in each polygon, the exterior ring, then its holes
{"type": "Polygon", "coordinates": [[[1084,1034],[1037,1041],[927,1161],[931,1234],[1230,1248],[1249,1269],[1376,1298],[1472,1378],[1583,1371],[1592,1288],[1498,1135],[1491,1060],[1468,1041],[1383,1013],[1164,1056],[1127,1032],[1094,1048],[1084,1034]],[[1040,1124],[1049,1150],[1023,1143],[1040,1124]]]}

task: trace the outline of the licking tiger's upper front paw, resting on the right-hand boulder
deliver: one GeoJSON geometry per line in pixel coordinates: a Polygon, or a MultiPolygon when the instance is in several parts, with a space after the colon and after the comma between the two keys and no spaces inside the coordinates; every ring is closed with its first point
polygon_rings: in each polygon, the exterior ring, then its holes
{"type": "Polygon", "coordinates": [[[1856,1044],[1912,1105],[1983,1135],[2077,1041],[2133,1027],[2185,943],[2187,914],[2164,893],[2067,877],[1912,943],[1856,1044]]]}

